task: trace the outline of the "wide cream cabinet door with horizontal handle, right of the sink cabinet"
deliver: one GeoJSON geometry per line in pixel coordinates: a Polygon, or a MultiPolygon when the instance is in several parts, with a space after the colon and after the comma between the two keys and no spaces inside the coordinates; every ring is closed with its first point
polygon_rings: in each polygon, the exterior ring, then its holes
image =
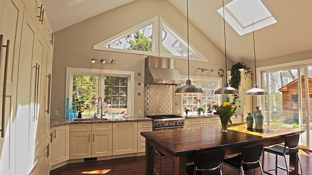
{"type": "Polygon", "coordinates": [[[113,123],[113,155],[137,152],[137,122],[113,123]]]}

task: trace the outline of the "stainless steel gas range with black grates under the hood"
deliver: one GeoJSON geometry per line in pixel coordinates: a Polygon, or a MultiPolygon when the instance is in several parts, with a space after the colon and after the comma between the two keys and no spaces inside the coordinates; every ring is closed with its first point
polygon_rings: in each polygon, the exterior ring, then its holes
{"type": "Polygon", "coordinates": [[[153,130],[178,129],[184,127],[184,117],[178,115],[146,116],[153,119],[153,130]]]}

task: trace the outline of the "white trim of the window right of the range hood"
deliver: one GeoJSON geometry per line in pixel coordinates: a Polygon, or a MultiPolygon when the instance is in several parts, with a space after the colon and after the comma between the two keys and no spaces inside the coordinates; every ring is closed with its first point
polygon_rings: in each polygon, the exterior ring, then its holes
{"type": "MultiPolygon", "coordinates": [[[[188,80],[187,75],[182,75],[184,80],[188,80]]],[[[210,81],[210,82],[215,82],[216,83],[216,89],[219,89],[221,87],[221,82],[222,78],[215,78],[215,77],[205,77],[205,76],[190,76],[191,81],[198,81],[198,85],[201,85],[202,81],[210,81]]],[[[202,95],[198,95],[199,99],[202,99],[202,95]]],[[[222,95],[216,95],[216,103],[221,103],[222,101],[222,95]]],[[[184,108],[183,108],[183,95],[181,94],[181,113],[184,113],[184,108]]]]}

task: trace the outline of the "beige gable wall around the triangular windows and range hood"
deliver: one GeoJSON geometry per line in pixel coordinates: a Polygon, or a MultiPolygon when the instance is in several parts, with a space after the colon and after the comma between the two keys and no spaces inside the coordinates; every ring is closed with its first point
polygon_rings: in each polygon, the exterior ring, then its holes
{"type": "MultiPolygon", "coordinates": [[[[134,115],[140,116],[138,112],[142,110],[141,116],[143,116],[144,58],[146,55],[93,50],[93,45],[154,16],[161,16],[184,38],[187,38],[185,16],[167,0],[137,0],[57,31],[53,53],[51,118],[64,118],[66,67],[134,71],[134,115]],[[90,59],[93,57],[114,59],[116,64],[92,64],[90,59]],[[141,76],[138,76],[139,72],[141,76]],[[138,82],[142,85],[138,86],[138,82]],[[142,95],[138,96],[138,92],[142,95]],[[59,116],[54,116],[55,110],[59,111],[59,116]]],[[[219,77],[217,70],[225,69],[224,54],[194,25],[190,24],[189,31],[190,43],[208,58],[208,62],[190,61],[190,75],[219,77]],[[213,68],[215,72],[198,72],[195,70],[198,67],[213,68]]],[[[232,64],[229,60],[229,67],[232,64]]],[[[178,60],[178,70],[182,75],[187,75],[187,60],[178,60]]],[[[173,98],[173,104],[175,102],[180,104],[180,98],[173,98]]],[[[177,114],[176,109],[173,105],[173,114],[177,114]]]]}

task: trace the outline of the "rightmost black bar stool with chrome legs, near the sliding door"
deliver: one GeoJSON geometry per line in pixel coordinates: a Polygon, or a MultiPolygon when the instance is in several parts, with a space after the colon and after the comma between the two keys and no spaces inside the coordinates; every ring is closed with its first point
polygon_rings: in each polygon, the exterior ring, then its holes
{"type": "MultiPolygon", "coordinates": [[[[289,172],[291,172],[291,171],[289,170],[289,166],[287,164],[286,155],[297,153],[297,156],[299,159],[299,149],[298,149],[299,138],[300,138],[300,134],[294,134],[294,135],[286,136],[284,146],[274,145],[271,147],[263,148],[262,167],[264,166],[264,152],[269,152],[269,153],[275,154],[275,169],[265,170],[264,173],[273,175],[273,174],[269,173],[268,171],[274,171],[275,170],[275,174],[277,174],[277,168],[280,168],[282,170],[287,171],[287,175],[289,175],[289,172]],[[283,168],[283,167],[280,167],[277,165],[277,156],[278,155],[284,157],[286,168],[283,168]]],[[[302,174],[300,159],[299,159],[299,164],[300,164],[300,169],[301,169],[301,174],[302,174]]],[[[295,173],[295,172],[292,172],[292,173],[295,173]]],[[[298,173],[295,173],[295,174],[298,174],[298,173]]]]}

